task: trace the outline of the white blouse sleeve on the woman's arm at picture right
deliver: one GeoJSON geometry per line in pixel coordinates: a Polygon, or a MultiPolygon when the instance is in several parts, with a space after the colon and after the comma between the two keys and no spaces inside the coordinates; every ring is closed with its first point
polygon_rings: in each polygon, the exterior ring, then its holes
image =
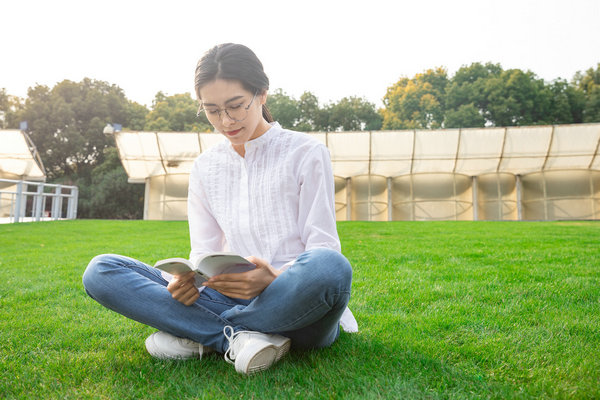
{"type": "Polygon", "coordinates": [[[307,152],[299,174],[298,227],[305,250],[325,247],[341,251],[335,221],[333,170],[324,145],[307,152]]]}

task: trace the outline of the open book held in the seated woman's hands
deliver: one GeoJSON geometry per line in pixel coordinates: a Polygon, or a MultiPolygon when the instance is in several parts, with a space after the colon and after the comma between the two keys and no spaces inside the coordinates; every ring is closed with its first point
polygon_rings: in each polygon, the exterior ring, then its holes
{"type": "Polygon", "coordinates": [[[154,268],[173,275],[196,271],[198,286],[215,275],[246,272],[254,267],[250,261],[233,253],[209,253],[200,257],[195,265],[190,260],[178,257],[160,260],[154,264],[154,268]]]}

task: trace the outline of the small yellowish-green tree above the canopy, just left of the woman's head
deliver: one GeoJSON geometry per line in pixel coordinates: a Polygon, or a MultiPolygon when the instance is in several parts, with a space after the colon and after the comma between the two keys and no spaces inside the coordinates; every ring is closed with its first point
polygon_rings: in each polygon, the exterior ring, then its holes
{"type": "Polygon", "coordinates": [[[210,132],[204,113],[196,115],[198,103],[189,93],[167,96],[158,92],[146,116],[144,130],[164,132],[210,132]]]}

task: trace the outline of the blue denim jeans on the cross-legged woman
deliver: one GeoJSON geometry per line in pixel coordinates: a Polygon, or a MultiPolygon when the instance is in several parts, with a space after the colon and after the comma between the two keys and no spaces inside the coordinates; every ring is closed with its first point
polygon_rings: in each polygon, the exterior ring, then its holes
{"type": "Polygon", "coordinates": [[[95,257],[83,274],[90,297],[128,318],[225,352],[223,328],[277,333],[295,348],[330,346],[350,299],[352,268],[340,253],[312,249],[257,297],[236,299],[205,288],[185,306],[171,297],[159,270],[129,257],[95,257]]]}

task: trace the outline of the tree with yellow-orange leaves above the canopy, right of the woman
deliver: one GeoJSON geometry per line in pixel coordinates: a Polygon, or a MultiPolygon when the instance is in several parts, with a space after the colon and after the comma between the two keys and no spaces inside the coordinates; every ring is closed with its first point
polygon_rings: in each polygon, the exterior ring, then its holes
{"type": "Polygon", "coordinates": [[[440,128],[447,85],[444,68],[429,69],[412,79],[401,78],[383,98],[383,129],[440,128]]]}

